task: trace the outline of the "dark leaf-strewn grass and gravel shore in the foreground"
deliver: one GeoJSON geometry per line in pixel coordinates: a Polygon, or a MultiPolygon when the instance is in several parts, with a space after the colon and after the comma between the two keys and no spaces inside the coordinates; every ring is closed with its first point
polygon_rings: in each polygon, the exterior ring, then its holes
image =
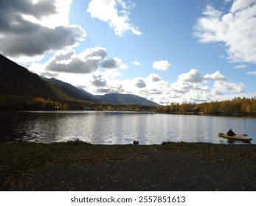
{"type": "Polygon", "coordinates": [[[1,191],[255,191],[256,145],[0,143],[1,191]]]}

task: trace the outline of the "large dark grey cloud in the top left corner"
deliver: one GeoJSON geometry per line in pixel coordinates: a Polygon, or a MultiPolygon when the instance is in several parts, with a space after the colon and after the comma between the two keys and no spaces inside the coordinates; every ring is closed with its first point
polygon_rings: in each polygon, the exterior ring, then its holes
{"type": "Polygon", "coordinates": [[[58,13],[55,1],[0,1],[0,51],[8,57],[36,56],[75,46],[86,37],[76,25],[49,28],[30,21],[58,13]]]}

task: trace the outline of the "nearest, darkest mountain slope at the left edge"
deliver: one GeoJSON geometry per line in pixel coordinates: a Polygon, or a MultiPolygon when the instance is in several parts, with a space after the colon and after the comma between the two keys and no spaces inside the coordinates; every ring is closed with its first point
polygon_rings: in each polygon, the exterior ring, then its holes
{"type": "Polygon", "coordinates": [[[0,95],[58,99],[52,87],[21,65],[0,54],[0,95]]]}

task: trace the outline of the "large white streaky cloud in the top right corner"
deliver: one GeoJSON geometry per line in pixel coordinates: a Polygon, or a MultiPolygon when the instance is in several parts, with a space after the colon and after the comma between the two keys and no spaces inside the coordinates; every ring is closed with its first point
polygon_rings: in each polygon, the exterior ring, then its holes
{"type": "Polygon", "coordinates": [[[195,35],[201,43],[224,43],[228,59],[256,63],[256,1],[232,2],[228,13],[211,5],[198,18],[195,35]]]}

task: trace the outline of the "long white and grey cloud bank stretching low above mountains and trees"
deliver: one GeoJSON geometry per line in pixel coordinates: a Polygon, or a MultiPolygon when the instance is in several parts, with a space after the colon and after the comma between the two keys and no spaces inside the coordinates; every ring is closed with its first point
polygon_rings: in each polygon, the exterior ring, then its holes
{"type": "MultiPolygon", "coordinates": [[[[243,92],[242,83],[227,82],[226,77],[219,71],[212,74],[201,74],[196,69],[180,74],[176,82],[165,82],[158,74],[150,74],[148,77],[136,77],[134,79],[118,79],[122,75],[117,69],[99,70],[100,63],[107,57],[104,48],[96,47],[87,49],[80,54],[68,50],[55,54],[55,57],[44,65],[35,67],[41,68],[42,73],[55,77],[72,85],[80,85],[93,94],[105,93],[133,93],[150,99],[159,104],[170,104],[171,102],[209,102],[214,96],[225,96],[235,93],[239,96],[243,92]],[[79,62],[77,63],[77,59],[79,62]],[[87,68],[88,60],[94,64],[87,68]],[[55,70],[44,70],[43,68],[54,62],[55,70]],[[77,65],[75,64],[77,63],[77,65]],[[60,64],[60,65],[58,65],[60,64]],[[83,66],[80,66],[83,65],[83,66]],[[49,74],[50,72],[50,74],[49,74]],[[210,82],[214,84],[210,84],[210,82]]],[[[252,74],[252,73],[250,73],[252,74]]],[[[255,73],[254,73],[255,74],[255,73]]]]}

